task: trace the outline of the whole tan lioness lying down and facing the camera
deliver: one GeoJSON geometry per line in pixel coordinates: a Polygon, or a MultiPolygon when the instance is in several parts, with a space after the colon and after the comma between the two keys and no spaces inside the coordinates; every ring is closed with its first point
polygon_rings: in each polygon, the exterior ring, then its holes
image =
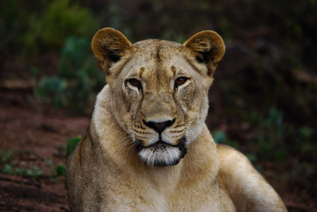
{"type": "Polygon", "coordinates": [[[249,160],[216,145],[204,124],[225,52],[217,33],[132,45],[105,28],[92,49],[108,84],[68,160],[71,211],[286,211],[249,160]]]}

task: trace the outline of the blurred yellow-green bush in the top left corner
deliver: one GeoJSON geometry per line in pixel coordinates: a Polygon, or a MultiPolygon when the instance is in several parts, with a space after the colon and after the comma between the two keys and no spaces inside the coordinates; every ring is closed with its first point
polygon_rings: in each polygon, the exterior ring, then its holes
{"type": "Polygon", "coordinates": [[[16,54],[19,63],[30,63],[41,50],[58,50],[69,35],[91,39],[100,28],[88,8],[70,0],[1,1],[0,14],[0,54],[16,54]]]}

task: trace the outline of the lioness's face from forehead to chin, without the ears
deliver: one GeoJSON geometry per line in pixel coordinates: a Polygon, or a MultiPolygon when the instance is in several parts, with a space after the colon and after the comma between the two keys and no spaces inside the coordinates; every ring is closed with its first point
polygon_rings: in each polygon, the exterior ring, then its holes
{"type": "Polygon", "coordinates": [[[179,53],[184,47],[174,45],[157,40],[138,43],[137,52],[119,74],[131,117],[123,122],[141,160],[149,165],[177,164],[201,132],[207,112],[200,114],[202,107],[207,108],[208,88],[198,82],[208,82],[179,53]],[[198,90],[206,95],[195,98],[198,90]]]}

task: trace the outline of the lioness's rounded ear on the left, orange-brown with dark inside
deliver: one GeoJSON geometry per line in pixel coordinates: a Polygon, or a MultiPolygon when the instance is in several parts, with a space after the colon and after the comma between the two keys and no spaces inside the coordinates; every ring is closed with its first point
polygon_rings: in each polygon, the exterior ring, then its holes
{"type": "Polygon", "coordinates": [[[91,45],[95,57],[107,73],[111,64],[118,62],[126,50],[133,48],[121,32],[112,28],[99,30],[93,37],[91,45]]]}

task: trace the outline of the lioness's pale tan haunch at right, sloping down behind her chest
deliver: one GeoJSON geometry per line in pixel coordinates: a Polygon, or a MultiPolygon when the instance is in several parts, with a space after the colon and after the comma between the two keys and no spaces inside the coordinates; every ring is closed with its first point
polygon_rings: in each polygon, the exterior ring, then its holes
{"type": "Polygon", "coordinates": [[[284,203],[265,178],[238,150],[217,144],[219,185],[237,211],[287,211],[284,203]]]}

